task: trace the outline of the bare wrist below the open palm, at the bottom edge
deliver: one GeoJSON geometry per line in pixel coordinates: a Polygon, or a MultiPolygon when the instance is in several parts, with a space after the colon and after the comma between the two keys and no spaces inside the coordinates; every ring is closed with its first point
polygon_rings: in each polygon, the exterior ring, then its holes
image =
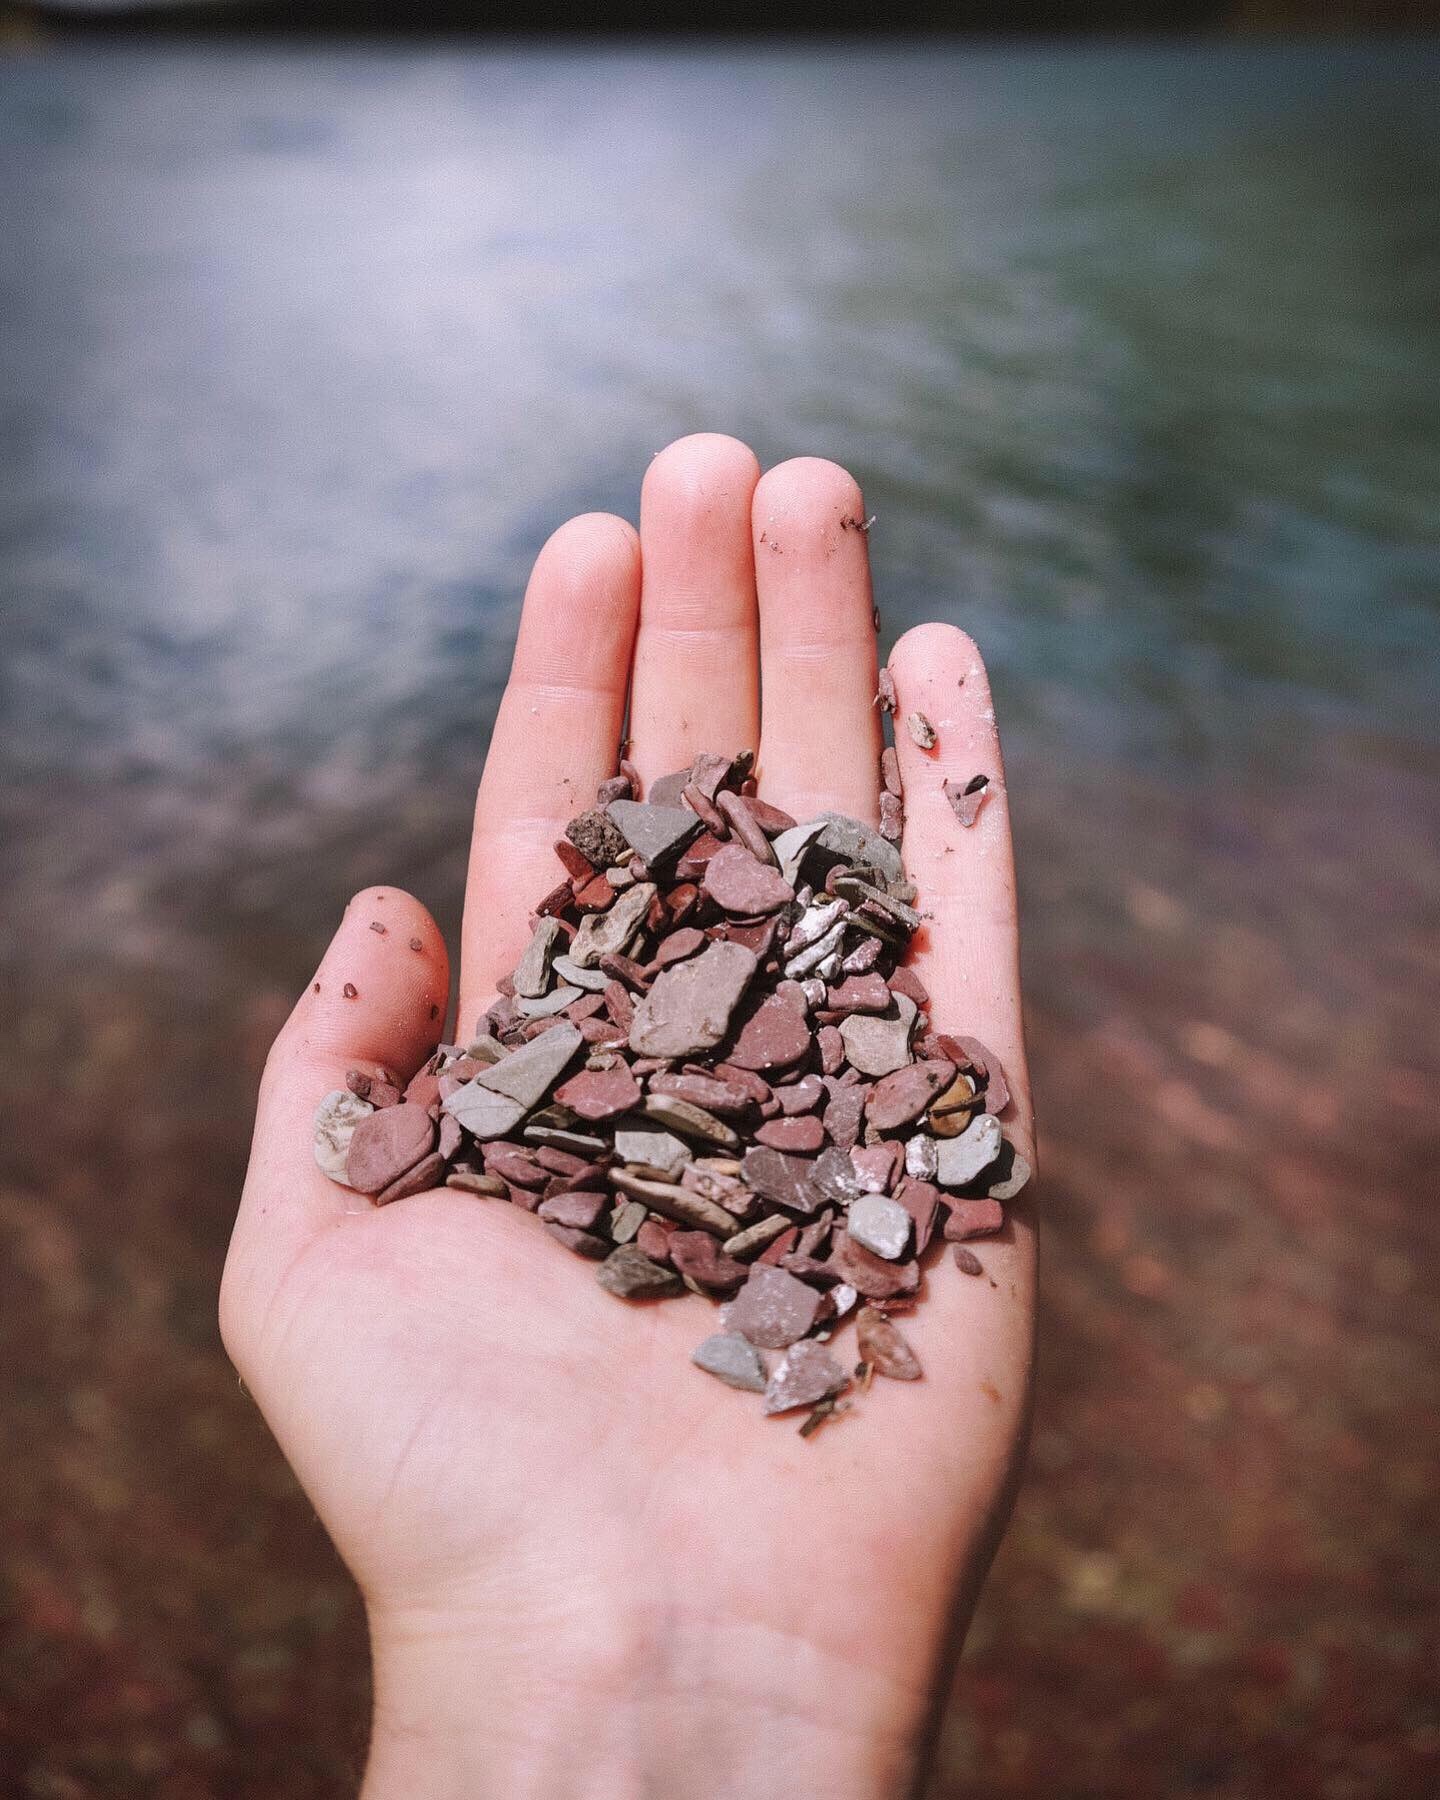
{"type": "Polygon", "coordinates": [[[517,1629],[497,1607],[477,1631],[464,1616],[373,1613],[364,1800],[898,1800],[914,1789],[931,1694],[859,1654],[679,1609],[641,1622],[576,1595],[545,1618],[544,1631],[517,1629]]]}

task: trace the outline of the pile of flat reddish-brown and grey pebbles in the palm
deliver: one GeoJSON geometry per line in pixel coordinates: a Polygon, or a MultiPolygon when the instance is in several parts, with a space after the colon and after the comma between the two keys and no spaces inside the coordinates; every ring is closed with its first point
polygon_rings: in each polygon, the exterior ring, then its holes
{"type": "MultiPolygon", "coordinates": [[[[898,806],[886,832],[797,823],[751,767],[707,752],[641,801],[621,763],[473,1040],[403,1089],[351,1069],[315,1157],[378,1206],[441,1184],[520,1206],[619,1300],[716,1301],[693,1363],[806,1408],[808,1435],[871,1375],[920,1377],[895,1318],[922,1258],[983,1274],[970,1246],[1030,1168],[999,1062],[934,1028],[902,963],[898,806]],[[850,1312],[853,1370],[828,1348],[850,1312]]],[[[882,776],[898,799],[893,752],[882,776]]]]}

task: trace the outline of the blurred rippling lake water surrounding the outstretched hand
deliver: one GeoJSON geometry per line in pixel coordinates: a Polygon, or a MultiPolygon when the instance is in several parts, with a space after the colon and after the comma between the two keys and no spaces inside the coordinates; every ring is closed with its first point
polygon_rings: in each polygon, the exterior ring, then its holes
{"type": "Polygon", "coordinates": [[[697,428],[853,468],[1006,733],[1046,1361],[938,1791],[1420,1791],[1436,77],[0,61],[7,1791],[346,1791],[358,1611],[212,1325],[254,1076],[351,891],[454,931],[529,560],[697,428]]]}

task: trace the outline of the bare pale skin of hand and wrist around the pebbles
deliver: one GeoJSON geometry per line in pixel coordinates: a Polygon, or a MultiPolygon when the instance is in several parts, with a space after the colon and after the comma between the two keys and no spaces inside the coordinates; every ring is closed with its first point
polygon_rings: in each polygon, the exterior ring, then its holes
{"type": "MultiPolygon", "coordinates": [[[[626,697],[646,781],[758,747],[761,794],[796,817],[878,819],[864,518],[833,463],[761,477],[743,445],[697,436],[652,461],[639,533],[589,513],[545,544],[475,806],[461,1037],[558,878],[553,841],[616,769],[626,697]]],[[[985,668],[950,625],[907,632],[889,666],[902,720],[938,731],[923,752],[896,729],[931,914],[913,965],[936,1024],[1001,1057],[1031,1154],[985,668]],[[959,830],[941,781],[977,772],[990,796],[959,830]]],[[[949,1253],[927,1269],[904,1323],[923,1381],[877,1382],[801,1440],[689,1364],[709,1301],[625,1305],[504,1202],[376,1210],[319,1172],[317,1100],[356,1062],[409,1076],[448,1024],[448,979],[418,900],[355,896],[266,1064],[220,1296],[227,1350],[364,1593],[365,1800],[920,1791],[1019,1469],[1030,1195],[974,1246],[983,1276],[949,1253]]],[[[853,1363],[853,1328],[833,1346],[853,1363]]]]}

